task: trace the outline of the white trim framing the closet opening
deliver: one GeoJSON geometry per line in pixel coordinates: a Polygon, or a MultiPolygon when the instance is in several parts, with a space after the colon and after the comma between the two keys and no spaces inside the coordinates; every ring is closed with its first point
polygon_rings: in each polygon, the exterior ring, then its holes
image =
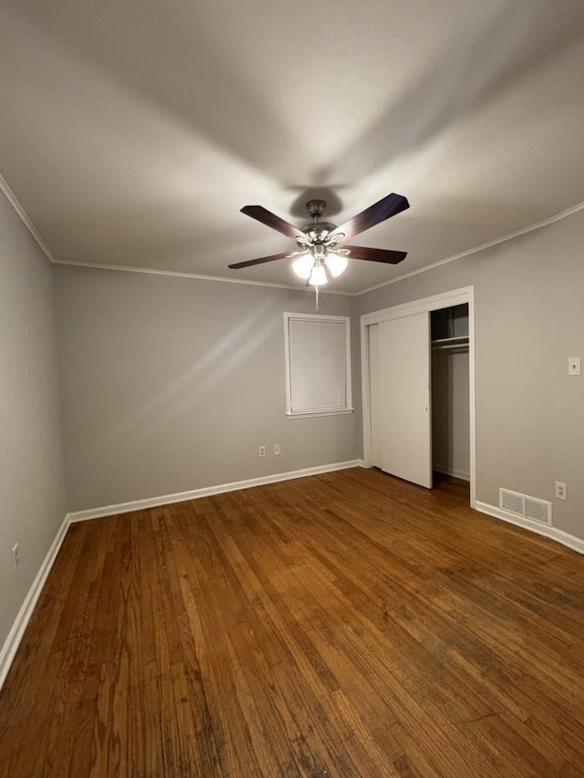
{"type": "MultiPolygon", "coordinates": [[[[470,487],[471,508],[476,506],[476,397],[474,382],[474,286],[463,286],[440,295],[422,297],[410,303],[383,308],[362,314],[361,330],[361,385],[363,388],[363,464],[371,467],[373,464],[371,442],[371,396],[370,396],[370,358],[369,358],[369,327],[382,321],[412,316],[413,314],[430,313],[440,308],[468,305],[468,389],[470,413],[470,487]]],[[[430,344],[429,347],[431,348],[430,344]]]]}

